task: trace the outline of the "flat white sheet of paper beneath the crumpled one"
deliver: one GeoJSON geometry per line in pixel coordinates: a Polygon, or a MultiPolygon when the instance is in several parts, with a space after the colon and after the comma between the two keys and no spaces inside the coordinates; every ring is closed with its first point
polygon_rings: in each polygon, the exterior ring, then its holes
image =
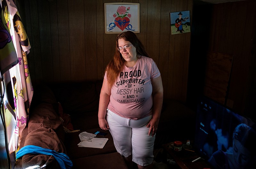
{"type": "Polygon", "coordinates": [[[81,141],[77,145],[78,145],[78,147],[90,147],[90,148],[103,149],[103,147],[105,146],[107,141],[108,141],[108,138],[95,138],[95,137],[93,137],[91,139],[91,142],[81,141]]]}

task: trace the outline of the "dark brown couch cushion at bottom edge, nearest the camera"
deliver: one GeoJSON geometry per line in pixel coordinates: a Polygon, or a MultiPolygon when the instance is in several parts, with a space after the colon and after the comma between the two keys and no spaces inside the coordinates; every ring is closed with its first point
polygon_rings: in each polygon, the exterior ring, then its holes
{"type": "Polygon", "coordinates": [[[84,158],[74,159],[71,161],[73,162],[72,169],[84,169],[84,168],[128,169],[123,157],[117,152],[84,157],[84,158]]]}

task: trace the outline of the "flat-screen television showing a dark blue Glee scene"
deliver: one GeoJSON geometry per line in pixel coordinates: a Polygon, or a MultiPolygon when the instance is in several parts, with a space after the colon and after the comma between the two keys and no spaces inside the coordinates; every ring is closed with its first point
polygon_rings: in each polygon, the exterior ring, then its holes
{"type": "Polygon", "coordinates": [[[194,148],[214,168],[256,168],[255,131],[254,120],[235,113],[209,97],[199,98],[194,148]]]}

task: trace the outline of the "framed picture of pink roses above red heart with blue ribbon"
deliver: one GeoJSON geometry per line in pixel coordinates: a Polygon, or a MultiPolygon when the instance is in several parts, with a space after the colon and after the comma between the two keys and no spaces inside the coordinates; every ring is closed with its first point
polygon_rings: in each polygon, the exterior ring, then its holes
{"type": "Polygon", "coordinates": [[[104,3],[104,7],[106,34],[140,33],[139,3],[104,3]]]}

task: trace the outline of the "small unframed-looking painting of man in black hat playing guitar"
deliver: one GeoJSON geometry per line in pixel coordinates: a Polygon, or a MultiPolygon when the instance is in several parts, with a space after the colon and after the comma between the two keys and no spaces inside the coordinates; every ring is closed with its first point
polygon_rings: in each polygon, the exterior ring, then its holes
{"type": "Polygon", "coordinates": [[[171,12],[170,19],[172,35],[190,32],[189,11],[171,12]]]}

